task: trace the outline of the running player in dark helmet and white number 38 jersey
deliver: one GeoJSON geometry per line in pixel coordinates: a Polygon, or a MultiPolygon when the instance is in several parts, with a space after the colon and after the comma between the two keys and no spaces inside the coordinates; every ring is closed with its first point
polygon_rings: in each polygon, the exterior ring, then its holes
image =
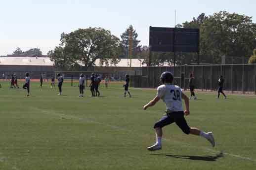
{"type": "Polygon", "coordinates": [[[166,115],[163,116],[154,126],[156,132],[156,143],[147,149],[150,151],[162,149],[162,128],[170,125],[171,123],[176,123],[176,125],[183,131],[185,134],[193,134],[197,136],[203,136],[208,141],[211,142],[212,146],[215,146],[213,133],[205,133],[198,130],[197,128],[190,128],[187,125],[187,122],[184,118],[189,115],[189,99],[182,93],[182,90],[179,86],[172,85],[173,76],[171,72],[166,71],[161,74],[160,80],[163,85],[157,88],[156,97],[143,106],[143,109],[146,110],[148,107],[154,106],[160,99],[166,103],[167,111],[166,115]],[[183,111],[182,100],[185,101],[186,110],[183,111]]]}

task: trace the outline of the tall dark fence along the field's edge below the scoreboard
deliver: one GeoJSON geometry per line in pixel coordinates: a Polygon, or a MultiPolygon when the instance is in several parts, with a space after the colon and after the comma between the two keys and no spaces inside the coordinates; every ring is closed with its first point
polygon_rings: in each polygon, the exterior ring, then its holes
{"type": "Polygon", "coordinates": [[[164,71],[171,71],[174,84],[184,89],[188,88],[189,74],[193,73],[196,89],[213,91],[218,88],[217,80],[223,75],[224,90],[256,94],[256,65],[199,65],[176,67],[144,67],[142,76],[132,77],[134,87],[157,87],[160,85],[160,75],[164,71]],[[138,80],[141,79],[141,80],[138,80]]]}

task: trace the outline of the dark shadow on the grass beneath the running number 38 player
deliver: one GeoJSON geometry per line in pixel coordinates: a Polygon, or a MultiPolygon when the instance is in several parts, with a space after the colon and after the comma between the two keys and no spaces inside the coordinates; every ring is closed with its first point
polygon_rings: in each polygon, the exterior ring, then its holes
{"type": "Polygon", "coordinates": [[[189,159],[193,161],[216,161],[218,158],[223,158],[223,154],[219,153],[215,156],[191,156],[191,155],[169,155],[169,154],[151,154],[151,155],[158,155],[158,156],[167,156],[172,158],[179,158],[179,159],[189,159]]]}

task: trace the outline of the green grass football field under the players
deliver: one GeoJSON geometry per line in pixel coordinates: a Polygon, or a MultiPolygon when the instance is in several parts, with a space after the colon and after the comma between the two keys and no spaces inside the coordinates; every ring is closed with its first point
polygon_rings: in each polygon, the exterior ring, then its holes
{"type": "MultiPolygon", "coordinates": [[[[153,89],[122,84],[100,87],[101,97],[88,88],[64,84],[39,89],[31,83],[31,97],[23,89],[0,88],[0,170],[255,170],[256,97],[198,93],[191,100],[191,127],[213,131],[216,146],[199,136],[185,135],[172,124],[164,128],[163,148],[149,152],[155,142],[154,123],[165,105],[142,110],[153,89]],[[220,153],[223,152],[223,155],[220,153]]],[[[102,84],[103,85],[103,84],[102,84]]],[[[21,82],[20,82],[21,86],[21,82]]]]}

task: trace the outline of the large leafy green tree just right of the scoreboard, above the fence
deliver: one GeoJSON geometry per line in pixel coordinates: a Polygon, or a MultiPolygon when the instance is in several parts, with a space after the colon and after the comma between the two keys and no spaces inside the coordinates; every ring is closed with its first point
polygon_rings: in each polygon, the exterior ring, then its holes
{"type": "Polygon", "coordinates": [[[220,11],[209,16],[200,27],[201,55],[211,55],[214,64],[221,56],[251,56],[256,46],[256,24],[252,17],[220,11]]]}

